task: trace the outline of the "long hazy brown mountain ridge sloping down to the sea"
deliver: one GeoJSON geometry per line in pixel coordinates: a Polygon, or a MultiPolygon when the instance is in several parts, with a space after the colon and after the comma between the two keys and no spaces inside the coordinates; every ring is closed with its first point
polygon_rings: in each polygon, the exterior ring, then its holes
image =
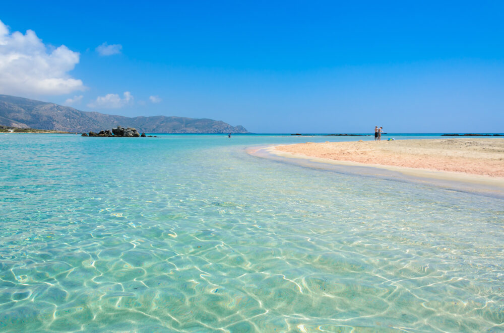
{"type": "Polygon", "coordinates": [[[120,125],[146,133],[248,133],[243,126],[220,120],[113,116],[9,95],[0,95],[0,125],[67,132],[97,132],[120,125]]]}

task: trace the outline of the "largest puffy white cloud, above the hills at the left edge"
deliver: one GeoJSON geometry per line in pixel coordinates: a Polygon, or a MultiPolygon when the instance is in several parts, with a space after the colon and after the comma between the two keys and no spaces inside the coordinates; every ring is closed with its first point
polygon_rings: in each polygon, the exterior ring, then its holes
{"type": "Polygon", "coordinates": [[[33,30],[9,32],[0,21],[0,92],[12,95],[62,95],[84,90],[68,72],[79,53],[65,45],[48,48],[33,30]]]}

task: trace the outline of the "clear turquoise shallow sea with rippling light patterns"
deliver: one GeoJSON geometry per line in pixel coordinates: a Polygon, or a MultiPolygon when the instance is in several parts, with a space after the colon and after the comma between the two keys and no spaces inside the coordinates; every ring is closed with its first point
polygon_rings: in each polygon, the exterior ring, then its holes
{"type": "Polygon", "coordinates": [[[349,139],[0,135],[0,331],[504,331],[502,199],[245,152],[349,139]]]}

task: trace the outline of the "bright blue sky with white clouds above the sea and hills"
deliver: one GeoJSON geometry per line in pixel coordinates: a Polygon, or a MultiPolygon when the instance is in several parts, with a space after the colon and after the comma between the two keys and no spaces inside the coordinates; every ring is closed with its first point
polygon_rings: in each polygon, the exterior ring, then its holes
{"type": "Polygon", "coordinates": [[[0,94],[255,133],[504,132],[504,2],[4,2],[0,94]]]}

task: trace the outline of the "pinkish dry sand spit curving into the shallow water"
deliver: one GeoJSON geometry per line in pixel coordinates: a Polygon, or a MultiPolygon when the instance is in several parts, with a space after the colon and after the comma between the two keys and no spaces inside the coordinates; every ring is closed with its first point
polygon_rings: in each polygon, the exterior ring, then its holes
{"type": "Polygon", "coordinates": [[[299,143],[275,150],[373,166],[398,166],[504,178],[504,139],[457,138],[299,143]]]}

